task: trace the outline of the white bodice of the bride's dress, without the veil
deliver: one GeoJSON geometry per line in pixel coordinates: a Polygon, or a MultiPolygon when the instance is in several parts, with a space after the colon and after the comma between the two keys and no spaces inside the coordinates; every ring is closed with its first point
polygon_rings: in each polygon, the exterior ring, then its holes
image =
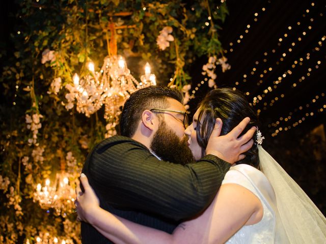
{"type": "Polygon", "coordinates": [[[276,218],[271,207],[275,203],[268,202],[275,200],[274,191],[265,175],[250,165],[240,164],[231,167],[225,175],[222,185],[228,183],[240,185],[255,194],[261,201],[264,212],[260,222],[243,226],[226,243],[275,243],[276,218]],[[270,195],[266,195],[266,188],[270,195]]]}

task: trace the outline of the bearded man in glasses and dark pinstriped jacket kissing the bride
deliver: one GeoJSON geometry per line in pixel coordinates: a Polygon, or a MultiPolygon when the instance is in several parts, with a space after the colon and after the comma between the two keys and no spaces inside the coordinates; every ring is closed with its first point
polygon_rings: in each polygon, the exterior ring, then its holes
{"type": "MultiPolygon", "coordinates": [[[[223,137],[216,125],[206,156],[195,163],[182,99],[179,90],[161,86],[131,94],[121,114],[122,136],[96,145],[83,168],[103,209],[171,233],[210,204],[231,164],[252,146],[253,130],[237,139],[248,121],[223,137]]],[[[84,222],[82,242],[112,243],[84,222]]]]}

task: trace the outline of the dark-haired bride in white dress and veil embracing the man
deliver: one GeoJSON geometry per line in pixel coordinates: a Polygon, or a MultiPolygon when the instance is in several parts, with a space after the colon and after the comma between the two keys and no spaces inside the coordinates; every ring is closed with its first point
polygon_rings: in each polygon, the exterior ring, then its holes
{"type": "MultiPolygon", "coordinates": [[[[228,88],[208,93],[185,130],[194,157],[204,155],[216,121],[223,123],[220,135],[225,135],[244,117],[251,118],[246,133],[257,126],[257,118],[242,94],[228,88]]],[[[100,208],[83,174],[80,181],[85,192],[76,189],[78,219],[115,243],[326,243],[325,217],[261,147],[258,130],[254,137],[257,143],[230,168],[210,206],[197,218],[181,223],[173,234],[100,208]]]]}

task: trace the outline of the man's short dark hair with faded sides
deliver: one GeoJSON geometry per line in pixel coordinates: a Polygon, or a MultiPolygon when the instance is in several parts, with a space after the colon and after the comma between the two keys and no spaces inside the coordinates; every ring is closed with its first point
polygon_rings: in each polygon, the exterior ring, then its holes
{"type": "Polygon", "coordinates": [[[132,93],[125,102],[120,116],[120,133],[132,137],[137,130],[142,113],[148,109],[169,107],[167,98],[182,103],[183,94],[177,88],[166,86],[148,86],[132,93]]]}

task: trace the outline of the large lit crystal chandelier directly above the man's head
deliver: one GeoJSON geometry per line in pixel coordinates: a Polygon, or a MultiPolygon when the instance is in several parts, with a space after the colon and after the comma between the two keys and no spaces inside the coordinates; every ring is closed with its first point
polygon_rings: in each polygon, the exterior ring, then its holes
{"type": "Polygon", "coordinates": [[[73,84],[67,84],[69,93],[66,99],[72,108],[72,102],[76,103],[79,113],[90,116],[103,105],[105,105],[104,118],[109,121],[118,120],[120,107],[135,90],[149,85],[156,85],[156,77],[151,74],[150,65],[145,65],[145,74],[141,76],[141,81],[137,81],[127,68],[125,59],[117,55],[117,42],[115,38],[115,25],[110,23],[111,38],[108,41],[108,56],[104,58],[102,68],[96,71],[93,62],[87,64],[87,74],[79,78],[73,75],[73,84]]]}

